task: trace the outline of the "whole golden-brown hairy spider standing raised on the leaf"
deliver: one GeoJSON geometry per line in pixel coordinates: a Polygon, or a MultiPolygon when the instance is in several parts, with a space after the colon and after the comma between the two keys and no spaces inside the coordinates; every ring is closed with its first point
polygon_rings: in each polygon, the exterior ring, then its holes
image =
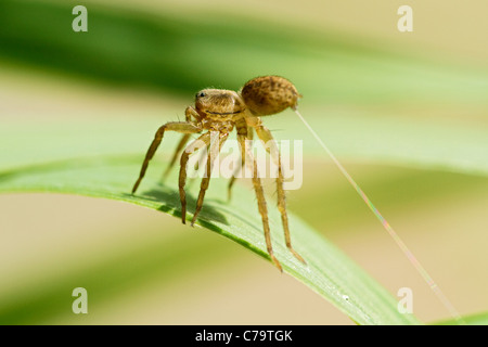
{"type": "MultiPolygon", "coordinates": [[[[256,77],[247,81],[239,91],[224,89],[203,89],[195,94],[195,106],[187,107],[184,115],[185,121],[169,121],[163,125],[154,137],[151,146],[147,150],[138,180],[132,188],[132,194],[136,193],[139,183],[145,175],[149,162],[154,156],[159,146],[166,131],[177,131],[184,133],[181,138],[170,164],[164,176],[168,174],[170,168],[175,165],[179,154],[183,151],[191,134],[202,133],[194,140],[181,154],[180,158],[180,174],[179,174],[179,194],[181,201],[181,219],[187,221],[187,194],[184,185],[187,181],[187,164],[191,154],[195,153],[197,141],[204,143],[207,147],[218,144],[218,147],[208,151],[208,158],[206,163],[206,175],[202,179],[198,198],[196,201],[196,209],[191,221],[194,224],[198,213],[202,209],[205,192],[208,189],[210,181],[210,172],[213,168],[213,159],[210,156],[213,150],[220,151],[222,144],[228,139],[230,132],[235,128],[237,132],[237,141],[241,150],[241,165],[247,165],[252,170],[253,187],[257,196],[258,210],[262,219],[262,227],[265,231],[265,240],[268,254],[280,271],[283,271],[280,261],[273,254],[271,245],[271,234],[268,221],[268,208],[265,200],[261,181],[257,171],[257,163],[253,157],[252,152],[246,146],[246,140],[253,140],[253,130],[256,131],[258,138],[266,144],[267,152],[271,155],[278,167],[277,177],[277,193],[278,193],[278,209],[281,213],[283,230],[285,235],[286,247],[290,252],[303,264],[306,264],[304,258],[292,247],[292,241],[288,229],[288,217],[286,214],[285,192],[283,189],[283,171],[281,165],[280,152],[277,143],[268,128],[262,125],[261,116],[269,116],[284,111],[287,107],[296,110],[298,99],[301,95],[296,90],[295,86],[287,79],[280,76],[262,76],[256,77]],[[218,141],[210,143],[211,133],[218,136],[218,141]]],[[[228,194],[230,197],[231,188],[235,180],[235,175],[232,176],[228,187],[228,194]]]]}

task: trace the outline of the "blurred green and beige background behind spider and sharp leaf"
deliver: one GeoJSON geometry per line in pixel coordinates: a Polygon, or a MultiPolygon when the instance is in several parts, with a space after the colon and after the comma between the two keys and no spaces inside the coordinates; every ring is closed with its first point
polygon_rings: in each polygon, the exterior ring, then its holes
{"type": "MultiPolygon", "coordinates": [[[[66,138],[82,141],[100,126],[118,139],[102,146],[88,138],[85,155],[142,155],[195,91],[282,75],[454,307],[487,310],[486,1],[86,1],[88,33],[74,33],[77,4],[0,4],[1,125],[29,129],[18,147],[0,149],[3,168],[39,160],[46,145],[31,130],[60,125],[82,129],[66,138]],[[413,9],[413,33],[397,29],[402,4],[413,9]]],[[[293,113],[266,124],[305,143],[304,184],[288,193],[290,210],[394,295],[411,287],[422,321],[448,318],[293,113]]],[[[69,157],[69,146],[51,153],[69,157]]],[[[273,198],[272,182],[267,189],[273,198]]],[[[4,194],[0,218],[1,323],[352,323],[240,245],[153,210],[4,194]],[[89,314],[70,311],[78,286],[89,314]]]]}

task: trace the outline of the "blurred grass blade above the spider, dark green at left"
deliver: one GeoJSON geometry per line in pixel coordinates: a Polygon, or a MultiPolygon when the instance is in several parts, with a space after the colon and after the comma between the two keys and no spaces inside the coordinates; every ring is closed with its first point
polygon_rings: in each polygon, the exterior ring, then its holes
{"type": "Polygon", "coordinates": [[[338,33],[235,13],[175,16],[89,5],[89,30],[70,29],[72,4],[4,0],[0,56],[117,86],[193,93],[239,89],[258,75],[283,75],[310,101],[487,105],[488,69],[358,42],[338,33]],[[224,20],[224,21],[223,21],[224,20]]]}

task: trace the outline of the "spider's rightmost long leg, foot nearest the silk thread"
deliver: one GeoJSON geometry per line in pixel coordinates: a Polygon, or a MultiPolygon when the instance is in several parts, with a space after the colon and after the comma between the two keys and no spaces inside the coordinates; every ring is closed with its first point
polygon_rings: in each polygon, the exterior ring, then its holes
{"type": "Polygon", "coordinates": [[[290,252],[292,252],[295,258],[300,260],[303,264],[307,264],[305,259],[292,247],[292,239],[290,236],[290,228],[288,228],[288,216],[286,214],[286,196],[285,191],[283,189],[284,182],[283,168],[277,142],[274,141],[271,131],[269,131],[268,128],[262,126],[260,121],[257,123],[254,129],[256,130],[256,133],[259,137],[259,139],[264,142],[266,151],[269,153],[269,155],[274,160],[274,164],[278,166],[278,178],[277,178],[278,209],[280,210],[281,214],[281,221],[283,224],[286,247],[290,249],[290,252]]]}

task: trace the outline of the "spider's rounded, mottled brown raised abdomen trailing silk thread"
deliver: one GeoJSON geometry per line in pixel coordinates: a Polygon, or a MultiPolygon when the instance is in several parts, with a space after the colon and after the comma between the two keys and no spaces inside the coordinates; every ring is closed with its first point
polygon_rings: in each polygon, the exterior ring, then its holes
{"type": "Polygon", "coordinates": [[[255,115],[267,116],[287,107],[295,108],[301,95],[286,78],[262,76],[247,81],[241,90],[241,97],[255,115]]]}

